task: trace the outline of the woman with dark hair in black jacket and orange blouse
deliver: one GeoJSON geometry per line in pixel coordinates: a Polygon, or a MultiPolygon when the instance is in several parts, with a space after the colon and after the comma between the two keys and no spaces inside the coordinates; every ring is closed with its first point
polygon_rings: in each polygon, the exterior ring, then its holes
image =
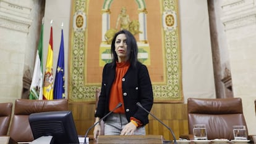
{"type": "MultiPolygon", "coordinates": [[[[105,121],[105,135],[145,135],[148,113],[139,108],[139,102],[148,111],[153,105],[153,90],[147,67],[137,59],[138,46],[134,36],[127,30],[114,35],[111,43],[113,61],[103,68],[101,94],[95,113],[95,122],[114,110],[105,121]]],[[[100,126],[93,131],[94,138],[100,126]]]]}

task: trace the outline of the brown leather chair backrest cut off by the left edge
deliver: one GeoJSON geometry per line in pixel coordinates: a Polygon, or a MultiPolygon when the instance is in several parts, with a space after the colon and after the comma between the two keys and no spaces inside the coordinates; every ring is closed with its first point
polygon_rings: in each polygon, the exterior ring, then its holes
{"type": "Polygon", "coordinates": [[[0,135],[7,135],[12,116],[12,103],[0,103],[0,135]]]}

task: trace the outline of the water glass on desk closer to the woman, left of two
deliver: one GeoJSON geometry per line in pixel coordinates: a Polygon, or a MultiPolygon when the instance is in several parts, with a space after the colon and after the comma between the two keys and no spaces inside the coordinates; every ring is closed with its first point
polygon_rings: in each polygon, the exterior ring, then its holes
{"type": "Polygon", "coordinates": [[[207,129],[205,124],[194,124],[193,133],[195,140],[207,140],[207,129]]]}

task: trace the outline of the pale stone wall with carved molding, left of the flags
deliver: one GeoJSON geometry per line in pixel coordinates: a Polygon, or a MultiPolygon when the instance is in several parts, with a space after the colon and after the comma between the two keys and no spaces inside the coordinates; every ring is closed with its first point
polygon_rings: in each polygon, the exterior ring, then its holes
{"type": "Polygon", "coordinates": [[[7,0],[0,5],[0,101],[14,102],[22,97],[23,79],[24,86],[30,86],[45,6],[40,0],[7,0]]]}

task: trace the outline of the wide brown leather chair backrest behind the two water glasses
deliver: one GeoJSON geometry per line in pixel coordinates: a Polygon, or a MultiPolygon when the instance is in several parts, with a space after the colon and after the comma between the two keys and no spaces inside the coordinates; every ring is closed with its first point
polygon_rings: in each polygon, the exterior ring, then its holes
{"type": "Polygon", "coordinates": [[[188,98],[187,113],[189,134],[193,134],[194,124],[206,124],[209,140],[234,139],[233,126],[247,129],[241,98],[188,98]]]}

